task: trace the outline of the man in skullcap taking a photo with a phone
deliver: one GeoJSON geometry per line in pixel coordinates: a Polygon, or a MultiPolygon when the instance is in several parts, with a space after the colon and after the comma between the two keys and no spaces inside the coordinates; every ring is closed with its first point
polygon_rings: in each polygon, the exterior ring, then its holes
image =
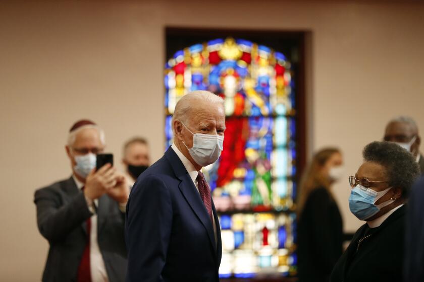
{"type": "Polygon", "coordinates": [[[73,174],[35,192],[37,224],[48,240],[42,281],[124,281],[124,239],[129,184],[110,164],[96,171],[104,133],[80,120],[69,132],[66,152],[73,174]]]}

